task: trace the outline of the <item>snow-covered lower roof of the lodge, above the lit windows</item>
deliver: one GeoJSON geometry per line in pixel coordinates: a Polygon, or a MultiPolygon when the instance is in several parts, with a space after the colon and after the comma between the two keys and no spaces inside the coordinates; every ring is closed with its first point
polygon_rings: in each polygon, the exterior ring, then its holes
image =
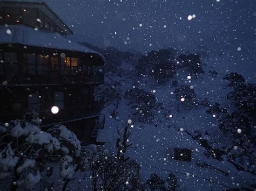
{"type": "Polygon", "coordinates": [[[77,51],[98,54],[90,48],[72,42],[58,33],[35,30],[32,27],[19,25],[0,26],[0,44],[22,44],[26,46],[54,48],[60,50],[77,51]]]}

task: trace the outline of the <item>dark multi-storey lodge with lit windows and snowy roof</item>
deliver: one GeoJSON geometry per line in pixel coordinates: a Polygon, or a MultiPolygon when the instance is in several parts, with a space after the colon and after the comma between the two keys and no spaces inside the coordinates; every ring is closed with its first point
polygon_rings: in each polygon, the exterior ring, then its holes
{"type": "Polygon", "coordinates": [[[0,122],[36,111],[42,129],[64,124],[82,142],[96,140],[105,60],[71,34],[45,3],[0,0],[0,122]]]}

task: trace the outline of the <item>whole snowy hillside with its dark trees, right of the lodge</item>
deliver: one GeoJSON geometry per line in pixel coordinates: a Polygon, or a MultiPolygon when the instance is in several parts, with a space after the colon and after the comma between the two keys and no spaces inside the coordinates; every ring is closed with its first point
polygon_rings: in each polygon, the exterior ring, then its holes
{"type": "Polygon", "coordinates": [[[243,62],[252,65],[252,52],[102,53],[106,123],[98,141],[108,150],[115,152],[117,129],[129,121],[125,155],[142,165],[145,179],[173,173],[181,190],[254,187],[255,73],[236,73],[243,62]],[[191,161],[175,159],[176,148],[190,150],[191,161]]]}

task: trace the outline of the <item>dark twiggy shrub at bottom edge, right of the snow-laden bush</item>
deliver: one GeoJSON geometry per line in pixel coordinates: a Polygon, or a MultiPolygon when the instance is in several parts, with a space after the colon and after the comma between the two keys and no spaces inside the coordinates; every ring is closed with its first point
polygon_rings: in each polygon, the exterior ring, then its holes
{"type": "Polygon", "coordinates": [[[94,190],[134,190],[143,185],[140,165],[129,158],[119,159],[103,146],[86,147],[94,190]]]}

